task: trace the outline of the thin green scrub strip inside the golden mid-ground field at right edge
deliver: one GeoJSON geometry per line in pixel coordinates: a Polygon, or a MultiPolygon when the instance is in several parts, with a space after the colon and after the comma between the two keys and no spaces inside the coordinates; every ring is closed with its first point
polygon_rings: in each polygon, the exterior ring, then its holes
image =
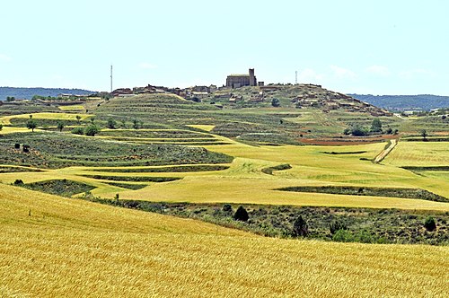
{"type": "Polygon", "coordinates": [[[323,187],[288,187],[277,188],[282,191],[295,192],[317,192],[334,195],[349,196],[373,196],[373,197],[403,197],[416,198],[429,201],[449,203],[445,197],[438,196],[430,191],[419,188],[367,188],[367,187],[340,187],[340,186],[323,186],[323,187]]]}

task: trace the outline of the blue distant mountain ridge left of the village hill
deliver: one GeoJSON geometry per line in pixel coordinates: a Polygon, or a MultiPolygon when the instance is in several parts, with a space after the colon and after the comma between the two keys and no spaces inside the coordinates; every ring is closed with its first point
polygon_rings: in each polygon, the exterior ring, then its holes
{"type": "Polygon", "coordinates": [[[67,89],[67,88],[22,88],[22,87],[0,87],[0,101],[6,101],[8,96],[16,99],[31,100],[34,95],[40,96],[57,96],[61,93],[74,95],[87,95],[95,92],[84,89],[67,89]]]}

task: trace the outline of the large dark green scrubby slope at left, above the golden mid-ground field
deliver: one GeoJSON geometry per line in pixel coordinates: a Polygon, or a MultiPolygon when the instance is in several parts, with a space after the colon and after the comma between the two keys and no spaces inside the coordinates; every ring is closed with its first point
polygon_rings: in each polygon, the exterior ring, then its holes
{"type": "Polygon", "coordinates": [[[165,164],[229,163],[233,157],[207,149],[165,144],[128,144],[97,137],[60,133],[10,134],[0,138],[4,164],[63,168],[68,166],[145,166],[165,164]],[[31,146],[30,153],[14,144],[31,146]]]}

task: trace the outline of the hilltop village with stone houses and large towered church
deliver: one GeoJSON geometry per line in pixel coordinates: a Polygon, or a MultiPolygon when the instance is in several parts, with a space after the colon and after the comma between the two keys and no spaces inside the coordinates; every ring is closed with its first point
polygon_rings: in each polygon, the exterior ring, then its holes
{"type": "MultiPolygon", "coordinates": [[[[121,88],[110,93],[112,97],[130,97],[145,93],[173,93],[190,101],[209,101],[219,107],[233,106],[239,102],[271,102],[275,98],[284,98],[296,108],[317,108],[327,113],[330,110],[365,112],[374,117],[392,116],[386,110],[379,109],[340,92],[331,92],[316,84],[274,84],[258,82],[254,69],[248,74],[230,74],[222,87],[216,85],[194,86],[189,88],[168,88],[148,84],[145,87],[121,88]]],[[[245,107],[245,105],[243,105],[245,107]]]]}

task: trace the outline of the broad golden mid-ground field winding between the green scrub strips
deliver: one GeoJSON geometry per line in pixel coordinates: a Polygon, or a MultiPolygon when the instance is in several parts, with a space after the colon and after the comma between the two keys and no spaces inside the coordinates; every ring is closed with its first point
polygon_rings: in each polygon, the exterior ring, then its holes
{"type": "Polygon", "coordinates": [[[416,199],[390,197],[358,197],[330,194],[285,193],[273,188],[302,185],[355,185],[373,187],[426,188],[449,197],[445,177],[423,177],[395,166],[360,161],[360,157],[372,158],[383,149],[383,144],[331,146],[281,146],[254,147],[249,145],[208,146],[214,151],[241,156],[226,171],[208,172],[157,172],[110,173],[89,171],[88,167],[70,167],[40,173],[4,173],[1,180],[13,183],[22,179],[25,183],[40,180],[77,180],[95,187],[93,194],[101,197],[146,199],[152,201],[234,202],[254,204],[284,204],[298,206],[354,206],[405,209],[449,210],[449,204],[416,199]],[[357,152],[357,154],[326,154],[326,152],[357,152]],[[254,159],[258,158],[258,159],[254,159]],[[275,171],[268,175],[261,170],[281,162],[293,168],[275,171]],[[336,171],[335,169],[339,169],[336,171]],[[79,175],[98,174],[112,176],[182,177],[183,180],[166,183],[149,183],[139,190],[125,190],[79,175]],[[251,190],[250,190],[251,189],[251,190]]]}

